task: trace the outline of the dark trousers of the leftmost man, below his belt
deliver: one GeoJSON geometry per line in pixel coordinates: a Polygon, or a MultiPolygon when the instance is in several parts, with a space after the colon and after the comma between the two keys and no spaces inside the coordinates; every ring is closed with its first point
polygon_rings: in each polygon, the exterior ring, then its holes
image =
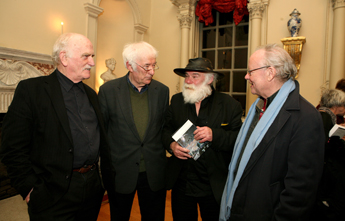
{"type": "Polygon", "coordinates": [[[68,191],[52,207],[35,213],[30,209],[29,202],[28,212],[30,220],[96,221],[103,195],[104,189],[102,188],[97,169],[90,170],[84,174],[72,172],[68,191]]]}

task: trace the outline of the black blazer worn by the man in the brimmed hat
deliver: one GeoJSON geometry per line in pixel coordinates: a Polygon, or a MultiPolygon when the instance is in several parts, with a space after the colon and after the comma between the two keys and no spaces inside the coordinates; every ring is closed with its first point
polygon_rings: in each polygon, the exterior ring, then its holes
{"type": "MultiPolygon", "coordinates": [[[[220,204],[224,185],[228,175],[228,165],[231,160],[237,134],[241,128],[242,108],[239,102],[227,94],[213,92],[213,102],[207,126],[212,129],[213,141],[201,157],[206,158],[205,167],[210,180],[213,195],[220,204]]],[[[166,114],[166,124],[163,130],[163,142],[169,149],[174,141],[172,135],[188,120],[188,104],[184,103],[182,93],[171,98],[171,104],[166,114]]],[[[167,189],[173,188],[183,164],[187,160],[170,157],[167,166],[167,189]]]]}

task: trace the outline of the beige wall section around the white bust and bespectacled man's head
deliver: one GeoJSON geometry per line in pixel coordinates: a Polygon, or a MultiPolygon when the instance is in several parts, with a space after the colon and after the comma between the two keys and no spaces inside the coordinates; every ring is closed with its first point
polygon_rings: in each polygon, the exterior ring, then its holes
{"type": "MultiPolygon", "coordinates": [[[[135,1],[132,1],[135,2],[135,1]]],[[[103,84],[100,75],[107,70],[105,60],[115,58],[115,74],[122,77],[127,73],[123,64],[122,50],[125,44],[134,42],[134,17],[140,17],[148,29],[144,41],[152,44],[159,52],[159,70],[154,78],[175,91],[178,81],[173,69],[179,65],[180,28],[177,7],[169,0],[137,1],[139,14],[131,9],[129,1],[102,0],[104,12],[98,18],[98,45],[96,67],[96,90],[103,84]]],[[[135,6],[135,4],[134,4],[135,6]]]]}

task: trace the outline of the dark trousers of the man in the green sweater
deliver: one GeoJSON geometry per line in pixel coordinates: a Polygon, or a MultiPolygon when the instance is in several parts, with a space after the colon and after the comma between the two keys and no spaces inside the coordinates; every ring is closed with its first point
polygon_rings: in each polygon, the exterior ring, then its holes
{"type": "Polygon", "coordinates": [[[138,193],[141,220],[163,221],[166,190],[152,191],[147,181],[146,172],[139,173],[137,187],[134,192],[130,194],[108,192],[111,220],[129,220],[136,191],[138,193]]]}

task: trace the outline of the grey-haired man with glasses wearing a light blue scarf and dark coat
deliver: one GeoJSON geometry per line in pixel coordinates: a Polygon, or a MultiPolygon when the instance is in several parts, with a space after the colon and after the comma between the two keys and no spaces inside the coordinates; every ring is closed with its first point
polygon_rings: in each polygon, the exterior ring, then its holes
{"type": "Polygon", "coordinates": [[[323,168],[320,114],[300,95],[283,48],[259,47],[248,68],[259,97],[235,143],[219,220],[308,220],[323,168]]]}

